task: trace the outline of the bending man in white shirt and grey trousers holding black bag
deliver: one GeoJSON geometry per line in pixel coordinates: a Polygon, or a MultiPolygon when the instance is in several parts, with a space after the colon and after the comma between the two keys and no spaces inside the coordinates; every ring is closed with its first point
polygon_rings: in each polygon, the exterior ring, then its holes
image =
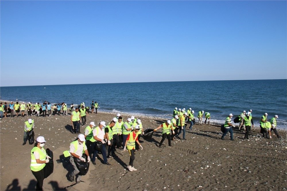
{"type": "Polygon", "coordinates": [[[74,176],[76,176],[76,182],[80,182],[81,178],[82,178],[82,175],[79,174],[80,171],[75,164],[74,158],[78,158],[81,161],[85,162],[86,160],[82,157],[83,153],[85,153],[88,157],[87,162],[90,162],[90,160],[91,160],[90,155],[89,155],[88,150],[87,150],[87,147],[86,147],[86,144],[85,144],[85,141],[86,141],[85,136],[83,134],[79,134],[78,139],[76,141],[73,141],[70,144],[70,149],[69,149],[69,153],[71,154],[70,162],[71,162],[72,166],[74,167],[74,170],[69,175],[69,178],[72,182],[74,182],[74,180],[75,180],[74,176]]]}

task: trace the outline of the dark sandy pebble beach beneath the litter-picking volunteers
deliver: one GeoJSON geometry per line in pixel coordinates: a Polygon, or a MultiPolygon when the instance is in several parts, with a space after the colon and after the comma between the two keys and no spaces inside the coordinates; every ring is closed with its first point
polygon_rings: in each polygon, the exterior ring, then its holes
{"type": "MultiPolygon", "coordinates": [[[[3,101],[2,101],[3,102],[3,101]]],[[[26,112],[27,114],[27,112],[26,112]]],[[[110,122],[116,113],[89,114],[87,124],[94,121],[110,122]]],[[[123,121],[130,116],[123,116],[123,121]]],[[[0,120],[1,133],[1,190],[34,190],[36,179],[30,170],[30,151],[33,145],[22,146],[25,117],[0,120]]],[[[44,136],[44,148],[54,154],[54,172],[44,180],[44,190],[286,190],[287,141],[286,131],[278,130],[282,138],[272,132],[272,139],[263,139],[259,128],[251,129],[250,141],[244,140],[245,132],[234,128],[234,141],[229,133],[221,140],[220,125],[197,125],[186,130],[187,141],[176,139],[173,147],[168,140],[162,148],[161,129],[152,141],[142,142],[143,150],[136,151],[134,166],[128,171],[129,154],[117,149],[117,157],[103,165],[102,155],[96,165],[90,163],[88,174],[81,182],[70,182],[72,171],[63,151],[77,138],[71,133],[68,116],[30,117],[35,123],[35,139],[44,136]]],[[[144,116],[140,118],[144,129],[156,128],[164,119],[144,116]]],[[[87,125],[86,125],[87,126],[87,125]]],[[[81,125],[84,133],[86,126],[81,125]]],[[[189,124],[188,124],[189,126],[189,124]]],[[[182,134],[180,135],[182,138],[182,134]]]]}

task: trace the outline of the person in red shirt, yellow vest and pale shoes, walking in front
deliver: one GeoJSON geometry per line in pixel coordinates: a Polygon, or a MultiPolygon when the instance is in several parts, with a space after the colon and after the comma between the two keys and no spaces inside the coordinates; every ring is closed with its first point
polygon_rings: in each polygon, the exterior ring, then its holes
{"type": "MultiPolygon", "coordinates": [[[[136,171],[135,167],[133,167],[133,161],[135,160],[135,142],[139,144],[139,141],[137,139],[138,134],[137,132],[139,131],[139,126],[135,126],[135,130],[130,132],[129,135],[127,136],[127,139],[125,140],[125,146],[124,146],[124,151],[129,151],[129,165],[127,166],[129,171],[136,171]]],[[[139,147],[141,147],[141,150],[143,147],[141,144],[139,144],[139,147]]]]}

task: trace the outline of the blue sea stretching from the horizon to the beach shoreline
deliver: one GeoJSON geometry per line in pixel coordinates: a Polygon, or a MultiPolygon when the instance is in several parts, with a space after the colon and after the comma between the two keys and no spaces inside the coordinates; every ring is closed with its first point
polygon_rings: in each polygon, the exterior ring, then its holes
{"type": "Polygon", "coordinates": [[[99,111],[171,118],[175,107],[211,114],[211,123],[224,123],[252,109],[255,126],[267,112],[278,115],[277,128],[287,129],[287,80],[176,81],[0,87],[1,100],[19,102],[99,103],[99,111]]]}

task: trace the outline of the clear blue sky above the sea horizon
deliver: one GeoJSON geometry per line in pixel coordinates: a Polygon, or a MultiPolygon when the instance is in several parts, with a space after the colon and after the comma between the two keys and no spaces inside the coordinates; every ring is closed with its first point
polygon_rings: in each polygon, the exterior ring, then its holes
{"type": "Polygon", "coordinates": [[[0,1],[1,86],[287,78],[286,1],[0,1]]]}

